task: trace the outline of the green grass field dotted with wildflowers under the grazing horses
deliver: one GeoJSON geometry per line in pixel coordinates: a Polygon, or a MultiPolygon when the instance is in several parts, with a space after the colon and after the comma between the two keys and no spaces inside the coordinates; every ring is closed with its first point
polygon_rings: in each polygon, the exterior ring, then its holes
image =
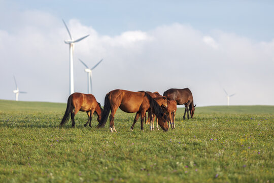
{"type": "Polygon", "coordinates": [[[273,182],[274,106],[197,107],[168,132],[58,125],[66,104],[0,100],[0,182],[273,182]]]}

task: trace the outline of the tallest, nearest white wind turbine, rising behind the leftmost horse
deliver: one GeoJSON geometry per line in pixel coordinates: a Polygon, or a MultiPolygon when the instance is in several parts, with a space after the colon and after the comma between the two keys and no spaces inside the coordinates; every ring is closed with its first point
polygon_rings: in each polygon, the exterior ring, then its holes
{"type": "MultiPolygon", "coordinates": [[[[63,20],[63,22],[64,22],[64,20],[63,20]]],[[[73,77],[74,44],[77,43],[77,42],[79,42],[79,41],[81,41],[81,40],[83,40],[83,39],[85,39],[85,38],[88,37],[89,35],[84,36],[84,37],[82,37],[82,38],[79,38],[79,39],[77,39],[77,40],[74,40],[74,39],[72,38],[72,35],[71,35],[70,31],[68,30],[68,28],[67,28],[65,22],[64,22],[64,25],[65,25],[65,28],[66,28],[66,30],[67,30],[67,32],[68,32],[68,35],[70,35],[70,38],[71,38],[70,40],[65,40],[65,41],[64,41],[66,44],[69,44],[69,45],[70,45],[70,95],[71,95],[71,94],[74,93],[74,79],[73,79],[73,78],[74,78],[74,77],[73,77]]]]}

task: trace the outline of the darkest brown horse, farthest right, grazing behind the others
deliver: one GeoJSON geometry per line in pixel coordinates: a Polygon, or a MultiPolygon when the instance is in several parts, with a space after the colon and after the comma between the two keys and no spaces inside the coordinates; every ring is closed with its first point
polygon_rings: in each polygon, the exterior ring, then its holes
{"type": "Polygon", "coordinates": [[[187,112],[187,118],[189,119],[188,111],[190,110],[191,118],[193,118],[195,107],[193,103],[193,97],[190,89],[184,88],[184,89],[175,89],[171,88],[166,90],[163,93],[163,96],[166,96],[167,99],[175,100],[177,102],[177,105],[185,105],[185,113],[184,113],[184,119],[187,112]]]}

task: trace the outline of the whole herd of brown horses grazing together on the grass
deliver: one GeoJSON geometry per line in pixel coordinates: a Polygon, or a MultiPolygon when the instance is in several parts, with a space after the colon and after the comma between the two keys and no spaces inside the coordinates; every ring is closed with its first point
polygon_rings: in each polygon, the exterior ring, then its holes
{"type": "Polygon", "coordinates": [[[104,109],[101,108],[100,103],[92,94],[74,93],[67,99],[66,110],[60,126],[65,125],[71,117],[72,127],[75,127],[74,117],[79,111],[83,111],[88,115],[88,121],[84,127],[88,124],[91,127],[92,116],[95,113],[98,121],[97,128],[105,127],[109,117],[110,131],[117,132],[114,126],[114,115],[120,108],[127,113],[136,113],[130,128],[131,131],[133,131],[139,117],[141,117],[141,130],[144,130],[144,118],[145,123],[150,123],[150,129],[154,130],[154,119],[156,117],[157,129],[159,130],[159,125],[162,130],[167,131],[170,127],[175,129],[177,105],[185,105],[184,119],[186,113],[188,119],[193,117],[196,105],[193,103],[193,96],[189,88],[171,88],[166,90],[163,96],[158,92],[131,92],[115,89],[106,95],[104,109]],[[148,117],[146,112],[148,112],[148,117]]]}

